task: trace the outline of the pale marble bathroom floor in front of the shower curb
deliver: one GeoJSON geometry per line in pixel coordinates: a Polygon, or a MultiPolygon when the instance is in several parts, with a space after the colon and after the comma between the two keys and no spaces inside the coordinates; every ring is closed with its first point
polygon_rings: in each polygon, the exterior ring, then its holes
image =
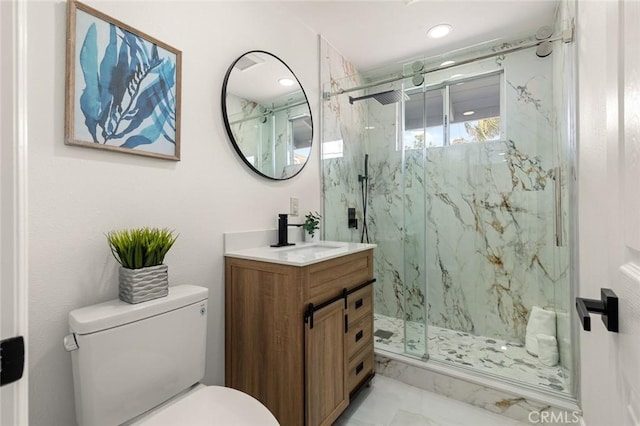
{"type": "Polygon", "coordinates": [[[376,375],[334,426],[524,426],[500,414],[376,375]]]}

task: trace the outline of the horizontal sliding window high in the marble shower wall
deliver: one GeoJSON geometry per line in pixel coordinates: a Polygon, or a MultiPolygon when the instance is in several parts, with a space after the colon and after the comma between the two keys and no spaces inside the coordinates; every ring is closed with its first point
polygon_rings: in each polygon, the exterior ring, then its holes
{"type": "Polygon", "coordinates": [[[404,149],[487,142],[502,137],[502,73],[408,90],[404,149]]]}

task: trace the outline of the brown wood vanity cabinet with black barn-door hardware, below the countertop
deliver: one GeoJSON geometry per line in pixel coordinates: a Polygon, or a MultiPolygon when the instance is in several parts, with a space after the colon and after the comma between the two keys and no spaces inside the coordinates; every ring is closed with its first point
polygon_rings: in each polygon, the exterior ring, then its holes
{"type": "Polygon", "coordinates": [[[307,266],[225,258],[225,382],[282,426],[330,425],[374,375],[373,250],[307,266]]]}

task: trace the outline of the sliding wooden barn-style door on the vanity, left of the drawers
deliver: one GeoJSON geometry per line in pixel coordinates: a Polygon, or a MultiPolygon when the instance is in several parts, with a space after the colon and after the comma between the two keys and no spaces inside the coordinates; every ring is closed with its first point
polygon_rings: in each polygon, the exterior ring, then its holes
{"type": "Polygon", "coordinates": [[[349,405],[344,300],[313,313],[305,324],[307,426],[331,425],[349,405]]]}

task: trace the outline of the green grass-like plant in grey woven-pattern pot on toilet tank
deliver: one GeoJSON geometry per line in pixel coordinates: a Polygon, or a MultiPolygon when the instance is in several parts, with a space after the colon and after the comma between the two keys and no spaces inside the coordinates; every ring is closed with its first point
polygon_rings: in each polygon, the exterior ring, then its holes
{"type": "Polygon", "coordinates": [[[120,300],[140,303],[169,294],[164,257],[178,238],[167,228],[134,228],[107,233],[113,257],[120,264],[120,300]]]}

